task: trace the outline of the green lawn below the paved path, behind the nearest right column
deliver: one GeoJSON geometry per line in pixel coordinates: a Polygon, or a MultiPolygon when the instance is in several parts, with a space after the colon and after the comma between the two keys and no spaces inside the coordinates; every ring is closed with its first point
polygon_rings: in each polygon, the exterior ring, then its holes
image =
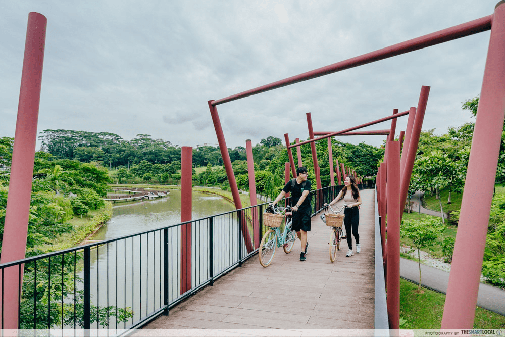
{"type": "MultiPolygon", "coordinates": [[[[426,288],[416,292],[417,284],[400,279],[400,321],[404,329],[439,329],[442,323],[445,295],[426,288]]],[[[474,329],[504,328],[505,316],[477,307],[474,329]]]]}

